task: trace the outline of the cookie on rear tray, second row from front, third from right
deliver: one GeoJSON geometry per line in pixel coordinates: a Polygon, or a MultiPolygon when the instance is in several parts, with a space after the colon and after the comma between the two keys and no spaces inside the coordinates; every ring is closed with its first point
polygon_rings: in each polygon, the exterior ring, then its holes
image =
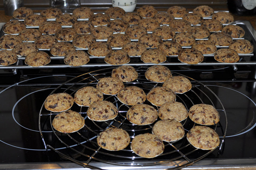
{"type": "Polygon", "coordinates": [[[181,52],[182,47],[176,42],[164,41],[158,45],[157,49],[163,51],[166,56],[175,56],[181,52]]]}

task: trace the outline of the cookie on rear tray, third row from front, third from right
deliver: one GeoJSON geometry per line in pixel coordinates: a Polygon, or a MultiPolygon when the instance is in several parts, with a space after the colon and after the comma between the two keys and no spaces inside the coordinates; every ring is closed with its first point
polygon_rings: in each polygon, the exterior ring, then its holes
{"type": "Polygon", "coordinates": [[[139,38],[139,42],[144,44],[146,47],[157,48],[163,40],[157,35],[145,34],[139,38]]]}

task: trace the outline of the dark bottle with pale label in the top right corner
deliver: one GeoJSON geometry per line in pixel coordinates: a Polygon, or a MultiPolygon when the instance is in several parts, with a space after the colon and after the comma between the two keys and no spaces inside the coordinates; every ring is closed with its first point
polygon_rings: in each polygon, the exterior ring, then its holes
{"type": "Polygon", "coordinates": [[[256,15],[256,0],[227,0],[227,7],[235,15],[256,15]]]}

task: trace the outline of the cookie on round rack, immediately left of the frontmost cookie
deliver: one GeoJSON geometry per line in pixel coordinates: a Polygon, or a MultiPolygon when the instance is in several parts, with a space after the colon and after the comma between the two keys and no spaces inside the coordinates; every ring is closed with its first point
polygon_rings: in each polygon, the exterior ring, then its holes
{"type": "Polygon", "coordinates": [[[123,129],[108,128],[99,133],[97,143],[103,149],[109,151],[119,151],[129,145],[130,136],[123,129]]]}

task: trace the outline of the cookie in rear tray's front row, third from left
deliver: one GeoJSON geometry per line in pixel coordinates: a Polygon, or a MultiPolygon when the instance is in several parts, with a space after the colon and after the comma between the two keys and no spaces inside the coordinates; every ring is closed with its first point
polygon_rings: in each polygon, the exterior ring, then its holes
{"type": "Polygon", "coordinates": [[[90,61],[88,54],[82,50],[68,52],[64,57],[65,64],[70,66],[82,66],[90,61]]]}

